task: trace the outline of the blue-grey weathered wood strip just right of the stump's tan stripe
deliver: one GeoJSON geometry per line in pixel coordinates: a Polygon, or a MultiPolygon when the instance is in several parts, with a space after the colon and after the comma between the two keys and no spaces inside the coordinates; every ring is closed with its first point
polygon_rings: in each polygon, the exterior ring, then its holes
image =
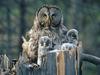
{"type": "Polygon", "coordinates": [[[75,68],[75,61],[76,57],[74,52],[65,52],[64,58],[65,58],[65,75],[76,75],[76,68],[75,68]]]}

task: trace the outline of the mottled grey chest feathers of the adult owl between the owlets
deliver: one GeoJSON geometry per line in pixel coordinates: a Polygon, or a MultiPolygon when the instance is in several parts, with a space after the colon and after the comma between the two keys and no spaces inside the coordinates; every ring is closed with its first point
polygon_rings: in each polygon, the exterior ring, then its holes
{"type": "Polygon", "coordinates": [[[62,44],[64,41],[67,41],[66,34],[63,34],[62,30],[43,30],[40,34],[41,36],[49,36],[54,44],[62,44]]]}

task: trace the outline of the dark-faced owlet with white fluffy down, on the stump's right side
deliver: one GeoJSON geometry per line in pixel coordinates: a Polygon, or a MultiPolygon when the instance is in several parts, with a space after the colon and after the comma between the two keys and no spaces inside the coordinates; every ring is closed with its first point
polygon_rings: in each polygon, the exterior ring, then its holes
{"type": "Polygon", "coordinates": [[[68,43],[64,43],[61,46],[61,50],[71,50],[78,46],[79,36],[76,29],[70,29],[67,32],[68,43]]]}

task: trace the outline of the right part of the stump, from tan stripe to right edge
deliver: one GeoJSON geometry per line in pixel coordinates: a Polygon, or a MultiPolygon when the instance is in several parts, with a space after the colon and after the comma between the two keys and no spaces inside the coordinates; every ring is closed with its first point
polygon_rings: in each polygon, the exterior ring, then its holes
{"type": "Polygon", "coordinates": [[[56,55],[57,75],[79,75],[79,47],[56,55]]]}

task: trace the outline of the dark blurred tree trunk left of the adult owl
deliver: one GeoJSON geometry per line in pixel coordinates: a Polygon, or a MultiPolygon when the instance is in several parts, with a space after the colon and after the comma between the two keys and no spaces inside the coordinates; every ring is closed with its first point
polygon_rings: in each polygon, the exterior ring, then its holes
{"type": "Polygon", "coordinates": [[[22,35],[24,35],[25,30],[26,30],[26,2],[25,0],[20,1],[20,41],[19,41],[19,53],[22,52],[22,35]]]}

